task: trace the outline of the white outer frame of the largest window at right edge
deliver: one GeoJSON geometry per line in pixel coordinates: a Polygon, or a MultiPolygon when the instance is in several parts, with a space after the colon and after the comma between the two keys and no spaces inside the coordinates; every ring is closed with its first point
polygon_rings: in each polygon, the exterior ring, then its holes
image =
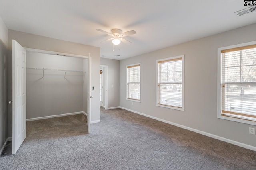
{"type": "Polygon", "coordinates": [[[219,119],[225,119],[229,121],[236,121],[240,123],[246,123],[249,125],[256,125],[256,121],[250,121],[246,119],[240,119],[240,118],[235,118],[235,117],[227,117],[222,115],[222,50],[227,50],[227,49],[234,49],[234,48],[239,48],[239,47],[244,47],[244,46],[249,46],[249,45],[255,45],[256,41],[251,41],[248,43],[241,43],[241,44],[236,44],[236,45],[230,45],[227,47],[220,47],[218,48],[218,80],[217,80],[217,117],[219,119]]]}

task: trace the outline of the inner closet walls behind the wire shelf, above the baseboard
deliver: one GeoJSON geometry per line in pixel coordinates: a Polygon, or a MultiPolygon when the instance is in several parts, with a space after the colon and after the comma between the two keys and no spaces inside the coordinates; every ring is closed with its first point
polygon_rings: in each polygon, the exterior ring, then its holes
{"type": "Polygon", "coordinates": [[[87,74],[88,59],[27,52],[26,118],[87,113],[87,74]]]}

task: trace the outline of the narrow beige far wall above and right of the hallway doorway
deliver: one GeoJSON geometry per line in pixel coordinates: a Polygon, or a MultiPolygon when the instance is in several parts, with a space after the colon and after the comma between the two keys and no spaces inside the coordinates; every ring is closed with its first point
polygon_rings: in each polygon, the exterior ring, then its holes
{"type": "Polygon", "coordinates": [[[108,66],[108,108],[119,106],[119,60],[100,58],[100,65],[108,66]]]}

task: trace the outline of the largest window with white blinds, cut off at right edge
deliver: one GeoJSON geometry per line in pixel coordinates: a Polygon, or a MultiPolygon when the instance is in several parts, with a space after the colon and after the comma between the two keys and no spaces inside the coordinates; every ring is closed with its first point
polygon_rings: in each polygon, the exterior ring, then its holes
{"type": "Polygon", "coordinates": [[[219,49],[218,116],[256,125],[256,42],[251,43],[219,49]]]}

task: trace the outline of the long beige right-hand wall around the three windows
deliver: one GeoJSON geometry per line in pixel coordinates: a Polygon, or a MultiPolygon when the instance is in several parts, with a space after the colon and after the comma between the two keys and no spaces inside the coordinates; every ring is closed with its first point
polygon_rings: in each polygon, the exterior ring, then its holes
{"type": "MultiPolygon", "coordinates": [[[[256,24],[120,61],[120,106],[256,147],[249,127],[217,118],[217,49],[256,40],[256,24]],[[184,111],[156,106],[156,60],[185,55],[184,111]],[[141,103],[126,100],[126,65],[141,63],[141,103]]],[[[216,146],[218,147],[218,146],[216,146]]]]}

